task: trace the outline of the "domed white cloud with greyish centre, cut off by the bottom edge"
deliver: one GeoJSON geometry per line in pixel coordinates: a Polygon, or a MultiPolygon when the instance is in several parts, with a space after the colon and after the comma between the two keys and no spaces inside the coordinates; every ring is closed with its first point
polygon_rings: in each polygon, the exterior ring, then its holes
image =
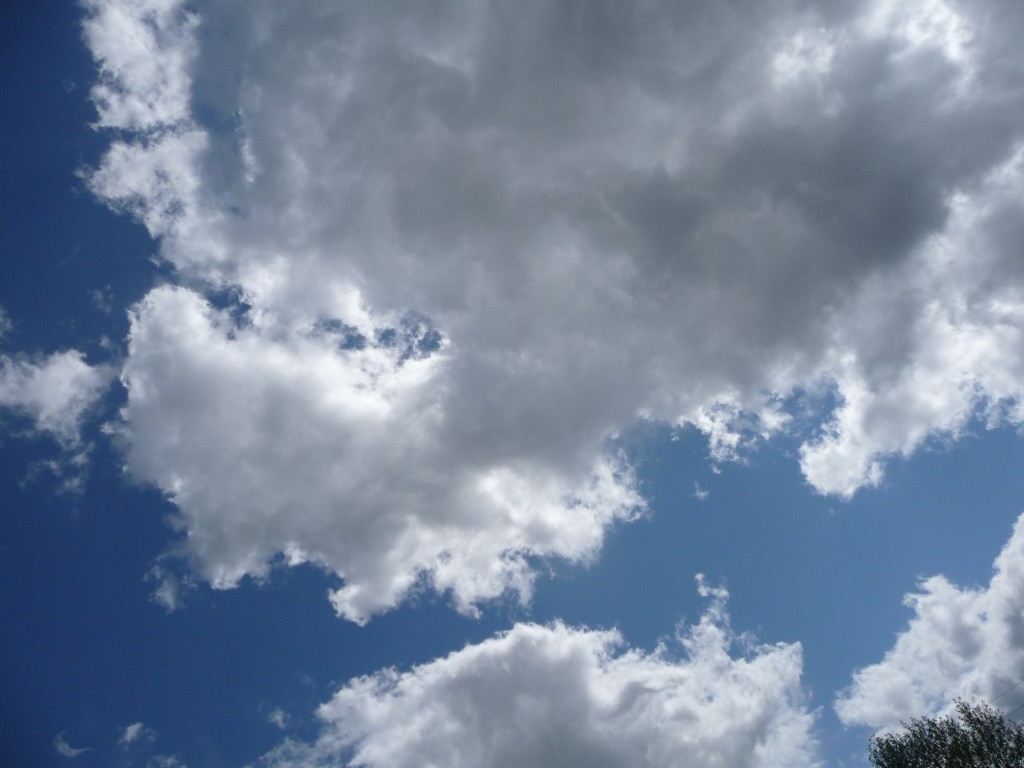
{"type": "Polygon", "coordinates": [[[409,672],[357,678],[321,707],[290,766],[799,768],[817,765],[801,648],[737,638],[724,590],[667,647],[630,649],[617,632],[520,624],[409,672]],[[742,645],[739,657],[732,644],[742,645]]]}

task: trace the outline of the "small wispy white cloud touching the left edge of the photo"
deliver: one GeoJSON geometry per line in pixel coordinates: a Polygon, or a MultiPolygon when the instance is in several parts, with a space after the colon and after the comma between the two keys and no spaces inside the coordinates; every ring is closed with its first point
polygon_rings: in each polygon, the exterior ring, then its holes
{"type": "Polygon", "coordinates": [[[113,370],[90,366],[82,352],[0,355],[0,408],[28,416],[34,428],[67,449],[77,446],[88,410],[110,386],[113,370]]]}

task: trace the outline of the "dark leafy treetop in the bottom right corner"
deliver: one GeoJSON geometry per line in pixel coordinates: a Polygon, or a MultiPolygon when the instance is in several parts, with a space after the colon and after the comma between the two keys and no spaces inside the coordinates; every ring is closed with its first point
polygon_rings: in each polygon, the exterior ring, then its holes
{"type": "Polygon", "coordinates": [[[877,768],[1024,768],[1024,724],[987,703],[956,699],[958,717],[914,718],[897,733],[871,736],[877,768]]]}

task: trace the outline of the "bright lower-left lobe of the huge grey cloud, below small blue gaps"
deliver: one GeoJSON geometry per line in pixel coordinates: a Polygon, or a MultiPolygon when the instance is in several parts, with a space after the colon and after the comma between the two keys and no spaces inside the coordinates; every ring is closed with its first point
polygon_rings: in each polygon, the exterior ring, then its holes
{"type": "Polygon", "coordinates": [[[423,572],[472,610],[509,587],[528,596],[524,555],[585,560],[639,505],[608,462],[573,487],[557,465],[440,450],[443,350],[403,355],[400,344],[339,351],[336,335],[311,329],[236,328],[183,289],[137,308],[123,372],[128,466],[179,506],[214,587],[264,575],[281,549],[343,573],[332,599],[353,621],[423,572]]]}

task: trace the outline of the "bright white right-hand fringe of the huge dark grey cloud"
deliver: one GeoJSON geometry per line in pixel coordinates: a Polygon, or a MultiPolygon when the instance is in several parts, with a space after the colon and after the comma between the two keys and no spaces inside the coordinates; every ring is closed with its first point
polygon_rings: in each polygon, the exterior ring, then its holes
{"type": "MultiPolygon", "coordinates": [[[[996,166],[949,203],[946,225],[894,280],[869,285],[847,334],[863,341],[836,367],[842,399],[824,435],[805,443],[801,466],[815,487],[852,496],[882,478],[885,459],[909,456],[928,437],[956,437],[981,413],[1022,423],[1024,283],[1009,263],[1011,237],[1024,224],[1024,154],[996,166]],[[899,335],[880,324],[886,306],[921,305],[899,335]],[[887,350],[892,344],[900,348],[887,350]]],[[[889,309],[888,312],[892,312],[889,309]]]]}

